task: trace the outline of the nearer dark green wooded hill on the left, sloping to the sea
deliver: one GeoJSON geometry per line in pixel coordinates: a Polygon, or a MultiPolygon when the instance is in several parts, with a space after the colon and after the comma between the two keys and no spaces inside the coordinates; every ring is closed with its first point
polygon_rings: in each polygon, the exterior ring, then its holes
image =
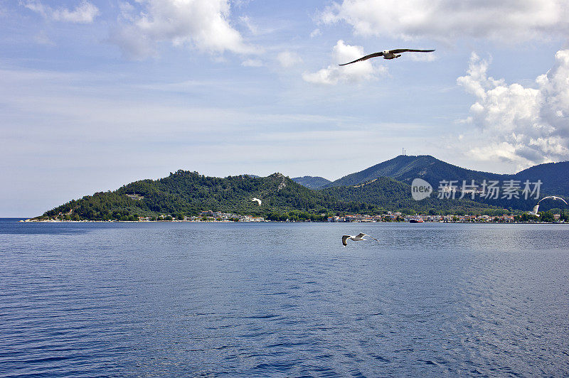
{"type": "Polygon", "coordinates": [[[177,171],[159,180],[139,180],[113,192],[72,200],[43,216],[55,217],[61,213],[81,220],[125,220],[135,216],[197,215],[203,210],[213,210],[270,217],[287,212],[319,215],[362,209],[371,207],[305,188],[280,173],[267,177],[216,178],[177,171]],[[262,206],[252,198],[262,200],[262,206]]]}

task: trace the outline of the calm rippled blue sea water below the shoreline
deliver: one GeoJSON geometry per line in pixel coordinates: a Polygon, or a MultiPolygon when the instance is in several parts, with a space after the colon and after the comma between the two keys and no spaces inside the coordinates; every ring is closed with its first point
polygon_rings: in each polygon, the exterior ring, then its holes
{"type": "Polygon", "coordinates": [[[568,237],[2,220],[0,375],[568,375],[568,237]]]}

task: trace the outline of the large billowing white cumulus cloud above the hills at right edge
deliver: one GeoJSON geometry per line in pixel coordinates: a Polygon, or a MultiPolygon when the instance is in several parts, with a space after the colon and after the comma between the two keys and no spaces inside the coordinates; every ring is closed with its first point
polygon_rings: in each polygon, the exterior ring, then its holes
{"type": "Polygon", "coordinates": [[[476,97],[467,124],[482,134],[471,146],[480,159],[499,158],[519,166],[569,158],[569,50],[555,54],[555,65],[534,87],[489,77],[489,60],[472,54],[467,75],[457,83],[476,97]]]}

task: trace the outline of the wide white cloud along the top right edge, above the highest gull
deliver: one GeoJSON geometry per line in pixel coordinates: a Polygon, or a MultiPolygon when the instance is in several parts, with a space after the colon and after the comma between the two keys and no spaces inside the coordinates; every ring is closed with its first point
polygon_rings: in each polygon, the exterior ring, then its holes
{"type": "Polygon", "coordinates": [[[460,37],[524,41],[569,31],[566,0],[342,0],[327,7],[324,23],[344,21],[363,36],[410,39],[460,37]]]}

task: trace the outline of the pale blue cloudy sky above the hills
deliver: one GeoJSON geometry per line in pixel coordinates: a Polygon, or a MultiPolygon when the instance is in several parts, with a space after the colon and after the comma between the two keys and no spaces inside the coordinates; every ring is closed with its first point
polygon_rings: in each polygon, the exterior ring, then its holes
{"type": "Polygon", "coordinates": [[[0,217],[184,169],[569,159],[565,0],[0,0],[0,217]],[[391,48],[436,49],[375,58],[391,48]]]}

